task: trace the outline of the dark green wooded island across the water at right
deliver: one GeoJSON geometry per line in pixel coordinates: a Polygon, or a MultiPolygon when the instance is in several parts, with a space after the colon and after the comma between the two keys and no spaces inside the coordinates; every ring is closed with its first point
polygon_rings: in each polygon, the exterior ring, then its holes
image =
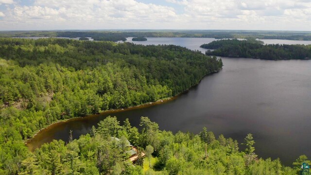
{"type": "Polygon", "coordinates": [[[215,49],[206,55],[260,58],[271,60],[311,59],[310,45],[263,45],[254,40],[224,39],[203,44],[200,47],[215,49]]]}

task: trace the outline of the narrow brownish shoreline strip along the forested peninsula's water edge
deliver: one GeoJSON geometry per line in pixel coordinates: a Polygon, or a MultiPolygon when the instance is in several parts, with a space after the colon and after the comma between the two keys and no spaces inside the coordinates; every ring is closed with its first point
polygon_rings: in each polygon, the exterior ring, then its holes
{"type": "MultiPolygon", "coordinates": [[[[220,69],[222,70],[222,68],[220,69]]],[[[214,71],[214,72],[211,72],[205,76],[202,77],[202,79],[195,85],[191,86],[190,88],[188,88],[187,90],[175,95],[175,96],[172,96],[172,97],[167,97],[167,98],[164,98],[164,99],[159,99],[155,102],[147,102],[147,103],[144,103],[144,104],[140,104],[140,105],[136,105],[136,106],[129,106],[127,108],[121,108],[121,109],[109,109],[109,110],[106,110],[106,111],[103,111],[101,113],[98,113],[98,114],[89,114],[89,115],[86,115],[86,116],[83,116],[83,117],[73,117],[73,118],[70,118],[70,119],[65,119],[65,120],[60,120],[60,121],[56,121],[55,123],[52,123],[52,124],[49,124],[48,126],[38,130],[33,136],[32,138],[30,139],[27,139],[27,140],[24,140],[24,144],[28,147],[28,149],[30,151],[34,151],[34,146],[31,146],[29,143],[35,138],[36,135],[40,134],[41,132],[44,132],[45,130],[51,128],[51,127],[54,127],[55,125],[57,124],[61,124],[61,123],[66,123],[66,122],[71,122],[71,121],[76,121],[76,120],[83,120],[84,118],[87,118],[87,117],[95,117],[95,116],[99,116],[99,115],[104,115],[104,114],[113,114],[113,113],[117,113],[117,112],[121,112],[121,111],[127,111],[127,110],[133,110],[133,109],[139,109],[139,108],[146,108],[146,107],[150,107],[150,106],[153,106],[153,105],[161,105],[161,104],[164,104],[164,103],[168,103],[168,102],[171,102],[175,99],[177,99],[179,96],[189,92],[189,90],[191,88],[195,88],[196,86],[198,86],[200,84],[200,82],[207,76],[209,75],[212,75],[214,73],[217,73],[219,72],[220,70],[217,70],[217,71],[214,71]]],[[[41,145],[40,145],[41,146],[41,145]]]]}

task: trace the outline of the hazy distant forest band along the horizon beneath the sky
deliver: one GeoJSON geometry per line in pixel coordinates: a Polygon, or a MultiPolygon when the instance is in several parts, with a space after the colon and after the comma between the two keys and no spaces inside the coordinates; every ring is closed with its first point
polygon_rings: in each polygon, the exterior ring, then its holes
{"type": "Polygon", "coordinates": [[[237,30],[120,30],[120,31],[0,31],[2,37],[92,37],[99,41],[125,41],[126,37],[209,37],[311,40],[310,32],[237,30]]]}

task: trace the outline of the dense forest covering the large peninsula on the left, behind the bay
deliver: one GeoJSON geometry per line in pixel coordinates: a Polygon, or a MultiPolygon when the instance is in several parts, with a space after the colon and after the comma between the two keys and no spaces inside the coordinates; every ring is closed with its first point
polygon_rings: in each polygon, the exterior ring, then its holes
{"type": "MultiPolygon", "coordinates": [[[[172,97],[222,66],[216,57],[174,45],[1,38],[0,174],[21,173],[28,163],[33,167],[28,174],[35,174],[37,166],[58,174],[54,166],[70,158],[80,161],[74,150],[56,141],[57,150],[46,151],[61,162],[43,152],[38,158],[29,153],[23,140],[56,121],[172,97]]],[[[93,156],[99,158],[95,152],[93,156]]]]}

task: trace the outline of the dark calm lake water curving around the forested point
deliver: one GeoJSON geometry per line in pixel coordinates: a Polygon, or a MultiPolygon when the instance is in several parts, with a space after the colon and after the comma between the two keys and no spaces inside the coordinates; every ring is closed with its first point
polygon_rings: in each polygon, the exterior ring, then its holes
{"type": "MultiPolygon", "coordinates": [[[[148,38],[139,43],[176,44],[200,50],[201,44],[212,40],[148,38]]],[[[198,133],[206,126],[216,136],[224,134],[240,143],[247,133],[252,133],[259,157],[280,157],[286,165],[299,155],[310,157],[311,60],[222,59],[223,70],[205,77],[173,101],[57,123],[28,145],[37,147],[52,139],[67,141],[70,130],[78,138],[108,115],[120,121],[129,118],[135,126],[141,116],[148,116],[160,129],[198,133]]]]}

